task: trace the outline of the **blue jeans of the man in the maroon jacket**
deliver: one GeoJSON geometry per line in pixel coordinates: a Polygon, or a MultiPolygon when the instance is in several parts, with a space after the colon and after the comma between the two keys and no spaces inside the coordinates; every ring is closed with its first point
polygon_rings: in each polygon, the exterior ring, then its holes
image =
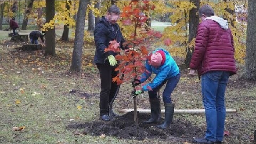
{"type": "Polygon", "coordinates": [[[202,101],[206,116],[206,136],[209,141],[222,141],[225,126],[225,90],[230,73],[210,71],[202,75],[202,101]]]}

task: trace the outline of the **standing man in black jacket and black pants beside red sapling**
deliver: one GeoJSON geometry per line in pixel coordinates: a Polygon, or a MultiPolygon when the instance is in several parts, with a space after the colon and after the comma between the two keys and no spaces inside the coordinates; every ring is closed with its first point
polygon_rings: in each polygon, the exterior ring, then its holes
{"type": "MultiPolygon", "coordinates": [[[[94,30],[94,41],[96,51],[94,55],[94,63],[100,73],[101,91],[100,91],[100,118],[109,121],[109,103],[117,91],[117,83],[112,82],[112,78],[119,73],[115,71],[118,66],[118,61],[115,59],[113,51],[105,52],[104,49],[109,46],[109,42],[116,40],[120,43],[120,47],[124,50],[123,43],[125,42],[119,25],[116,23],[120,16],[120,9],[116,5],[108,8],[107,14],[101,18],[96,24],[94,30]]],[[[114,113],[113,113],[114,114],[114,113]]],[[[114,114],[116,115],[116,114],[114,114]]]]}

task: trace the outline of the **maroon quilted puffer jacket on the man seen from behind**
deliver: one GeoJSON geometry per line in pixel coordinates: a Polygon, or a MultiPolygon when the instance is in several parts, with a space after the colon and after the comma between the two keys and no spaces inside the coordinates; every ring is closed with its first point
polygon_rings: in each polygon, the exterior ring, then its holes
{"type": "Polygon", "coordinates": [[[228,23],[223,22],[206,19],[198,26],[195,50],[189,67],[197,70],[199,78],[209,71],[229,71],[230,75],[236,74],[233,35],[228,23]],[[223,22],[226,24],[224,28],[221,26],[223,22]]]}

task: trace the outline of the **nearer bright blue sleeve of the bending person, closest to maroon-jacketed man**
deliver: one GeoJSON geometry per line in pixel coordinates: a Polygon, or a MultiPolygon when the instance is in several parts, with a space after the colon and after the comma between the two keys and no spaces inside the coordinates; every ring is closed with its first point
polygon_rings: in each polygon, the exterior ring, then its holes
{"type": "Polygon", "coordinates": [[[162,70],[156,75],[156,77],[153,79],[153,81],[151,83],[147,83],[146,85],[144,85],[142,87],[142,89],[144,91],[148,91],[150,87],[151,89],[156,88],[157,86],[159,86],[168,76],[169,72],[171,70],[170,66],[166,66],[164,68],[162,68],[162,70]]]}

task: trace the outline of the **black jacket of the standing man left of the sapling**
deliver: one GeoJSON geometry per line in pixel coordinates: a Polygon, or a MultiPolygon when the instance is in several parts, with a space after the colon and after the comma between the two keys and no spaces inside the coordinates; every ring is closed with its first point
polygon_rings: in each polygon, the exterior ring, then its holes
{"type": "Polygon", "coordinates": [[[125,42],[119,25],[115,23],[111,25],[105,17],[97,23],[94,30],[94,41],[96,45],[96,51],[94,55],[94,63],[108,62],[107,57],[110,55],[117,55],[113,51],[105,52],[104,49],[109,46],[109,41],[116,40],[120,43],[121,48],[124,50],[123,43],[125,42]]]}

